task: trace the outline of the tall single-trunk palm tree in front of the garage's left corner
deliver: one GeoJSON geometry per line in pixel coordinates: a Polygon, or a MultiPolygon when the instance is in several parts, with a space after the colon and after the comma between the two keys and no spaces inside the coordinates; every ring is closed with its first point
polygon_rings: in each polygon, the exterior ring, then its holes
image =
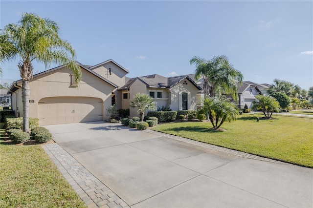
{"type": "Polygon", "coordinates": [[[55,21],[42,19],[33,13],[23,13],[17,24],[7,24],[0,31],[0,62],[20,59],[18,67],[22,77],[23,131],[29,131],[29,81],[33,78],[32,62],[42,62],[45,67],[53,62],[65,64],[75,75],[76,83],[82,78],[75,62],[75,50],[59,36],[55,21]]]}

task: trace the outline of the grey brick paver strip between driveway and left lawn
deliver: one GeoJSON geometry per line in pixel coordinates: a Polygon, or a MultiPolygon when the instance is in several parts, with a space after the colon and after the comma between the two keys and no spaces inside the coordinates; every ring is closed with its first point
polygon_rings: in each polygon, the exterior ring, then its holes
{"type": "Polygon", "coordinates": [[[58,144],[43,146],[67,182],[89,208],[129,208],[110,188],[92,175],[58,144]]]}

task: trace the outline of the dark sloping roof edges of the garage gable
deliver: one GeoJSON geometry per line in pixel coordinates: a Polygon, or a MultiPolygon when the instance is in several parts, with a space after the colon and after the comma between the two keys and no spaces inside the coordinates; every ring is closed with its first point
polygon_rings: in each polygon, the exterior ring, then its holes
{"type": "MultiPolygon", "coordinates": [[[[77,62],[77,61],[76,61],[76,62],[77,62]]],[[[80,67],[82,67],[83,69],[85,69],[85,70],[88,71],[89,73],[93,74],[94,76],[96,76],[96,77],[100,78],[101,80],[103,80],[103,81],[105,81],[105,82],[111,84],[113,87],[118,87],[116,84],[112,83],[111,81],[107,80],[106,78],[104,78],[104,77],[100,76],[99,74],[95,73],[94,71],[92,71],[91,69],[89,69],[89,68],[88,68],[87,66],[85,66],[84,64],[82,64],[82,63],[80,63],[80,62],[77,62],[77,63],[78,63],[78,65],[79,65],[80,67]]],[[[51,72],[56,71],[56,70],[58,70],[58,69],[61,69],[61,68],[63,68],[63,67],[65,67],[65,64],[63,64],[63,65],[61,65],[61,66],[57,66],[57,67],[52,68],[52,69],[49,69],[49,70],[46,70],[46,71],[43,71],[43,72],[40,72],[40,73],[38,73],[38,74],[35,74],[35,75],[33,76],[33,78],[36,78],[36,77],[39,77],[39,76],[42,76],[42,75],[51,73],[51,72]]],[[[8,93],[11,94],[12,92],[15,92],[15,91],[18,89],[18,87],[15,87],[14,84],[19,84],[19,83],[22,83],[22,79],[13,82],[13,83],[11,84],[9,90],[8,90],[8,93]]]]}

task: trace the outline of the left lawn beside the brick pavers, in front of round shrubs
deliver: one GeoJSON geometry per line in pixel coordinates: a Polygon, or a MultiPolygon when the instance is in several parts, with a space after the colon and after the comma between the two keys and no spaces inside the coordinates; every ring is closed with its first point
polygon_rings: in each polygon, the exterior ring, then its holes
{"type": "Polygon", "coordinates": [[[40,145],[8,145],[0,129],[0,156],[1,208],[86,207],[40,145]]]}

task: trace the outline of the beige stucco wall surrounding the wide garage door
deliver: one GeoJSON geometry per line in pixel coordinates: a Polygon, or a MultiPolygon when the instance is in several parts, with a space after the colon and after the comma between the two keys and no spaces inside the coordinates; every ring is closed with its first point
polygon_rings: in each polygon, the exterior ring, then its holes
{"type": "MultiPolygon", "coordinates": [[[[46,97],[93,97],[104,102],[103,119],[107,119],[105,110],[111,106],[111,93],[116,88],[82,69],[82,81],[79,87],[70,86],[70,75],[72,72],[66,67],[50,71],[30,81],[30,98],[34,103],[29,104],[29,117],[38,117],[38,102],[46,97]]],[[[21,83],[22,84],[22,83],[21,83]]],[[[18,93],[18,106],[22,116],[21,89],[18,93]]]]}

